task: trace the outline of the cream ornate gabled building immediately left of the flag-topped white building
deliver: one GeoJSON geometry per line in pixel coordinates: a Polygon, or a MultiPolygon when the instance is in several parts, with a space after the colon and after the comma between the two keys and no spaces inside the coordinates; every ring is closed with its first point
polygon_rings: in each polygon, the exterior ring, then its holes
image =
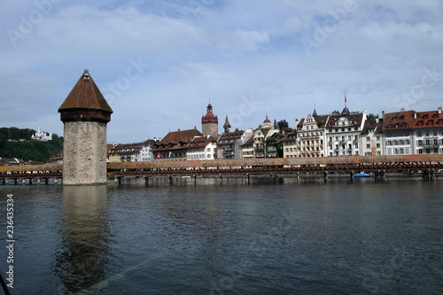
{"type": "Polygon", "coordinates": [[[325,131],[330,116],[318,116],[307,114],[306,118],[299,121],[297,125],[297,143],[300,158],[324,157],[325,151],[325,131]]]}

